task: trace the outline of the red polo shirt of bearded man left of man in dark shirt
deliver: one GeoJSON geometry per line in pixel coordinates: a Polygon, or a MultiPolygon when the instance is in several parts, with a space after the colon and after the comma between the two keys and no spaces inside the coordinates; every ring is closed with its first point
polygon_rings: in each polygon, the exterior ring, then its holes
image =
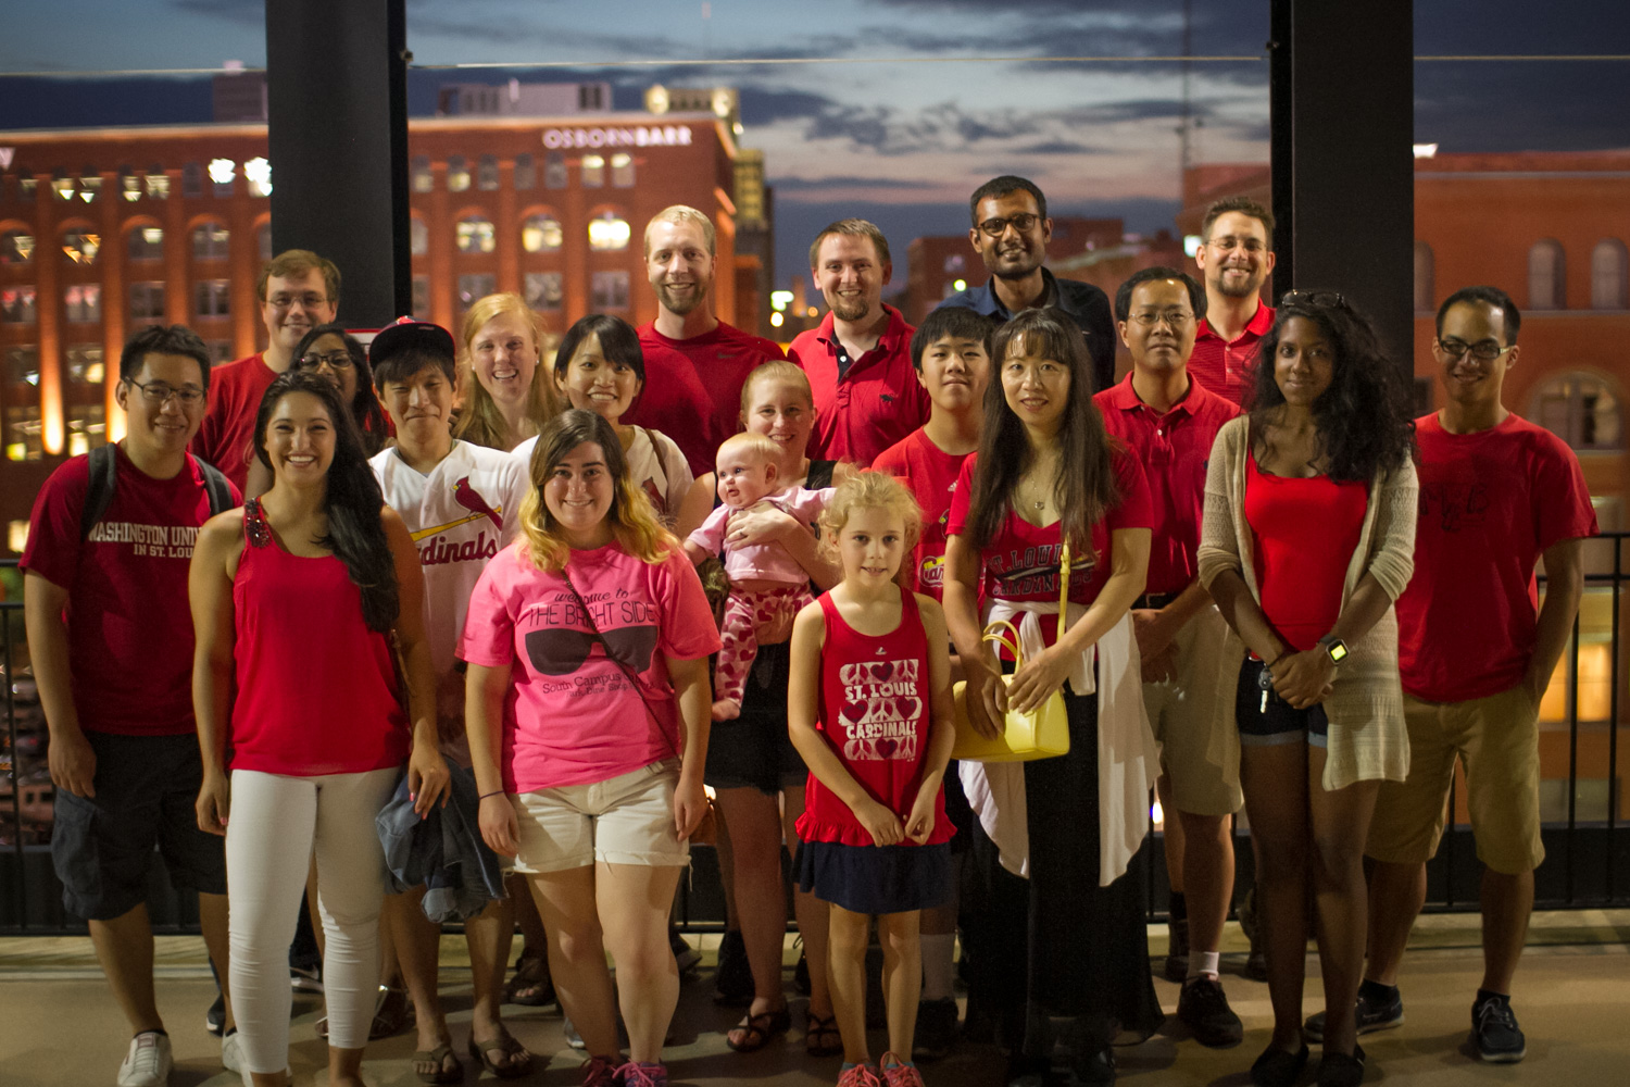
{"type": "Polygon", "coordinates": [[[927,422],[929,399],[911,367],[911,334],[916,331],[893,306],[883,306],[888,328],[877,347],[849,363],[838,376],[833,315],[820,328],[800,332],[787,357],[804,368],[815,391],[815,433],[810,456],[841,460],[869,468],[877,455],[927,422]]]}

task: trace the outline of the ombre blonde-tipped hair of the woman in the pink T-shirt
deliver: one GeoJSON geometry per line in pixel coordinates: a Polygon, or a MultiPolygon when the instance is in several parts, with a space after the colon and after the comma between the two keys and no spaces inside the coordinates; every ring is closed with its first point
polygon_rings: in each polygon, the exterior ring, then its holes
{"type": "Polygon", "coordinates": [[[641,562],[662,562],[680,541],[657,520],[650,499],[628,474],[623,443],[611,424],[592,411],[569,407],[543,424],[528,469],[531,489],[520,504],[520,538],[515,541],[540,570],[559,572],[570,557],[570,544],[556,531],[554,515],[543,500],[543,486],[554,466],[584,442],[593,442],[605,456],[606,471],[616,481],[606,521],[611,535],[641,562]]]}

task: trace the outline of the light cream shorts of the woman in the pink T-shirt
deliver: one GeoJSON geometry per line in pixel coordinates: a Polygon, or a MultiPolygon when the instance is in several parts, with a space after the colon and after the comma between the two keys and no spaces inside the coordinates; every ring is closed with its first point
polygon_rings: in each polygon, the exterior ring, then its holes
{"type": "Polygon", "coordinates": [[[688,865],[691,846],[673,831],[678,759],[610,781],[512,795],[520,823],[515,870],[523,875],[584,869],[595,860],[688,865]]]}

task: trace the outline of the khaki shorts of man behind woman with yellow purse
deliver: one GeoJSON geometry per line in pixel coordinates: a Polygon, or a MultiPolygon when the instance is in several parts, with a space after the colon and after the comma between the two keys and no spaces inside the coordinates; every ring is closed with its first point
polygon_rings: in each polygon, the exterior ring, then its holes
{"type": "Polygon", "coordinates": [[[1218,699],[1218,668],[1227,624],[1216,608],[1201,608],[1172,639],[1177,678],[1144,683],[1143,706],[1161,745],[1161,769],[1172,786],[1172,807],[1190,815],[1232,815],[1244,803],[1239,764],[1218,766],[1206,758],[1218,699]]]}

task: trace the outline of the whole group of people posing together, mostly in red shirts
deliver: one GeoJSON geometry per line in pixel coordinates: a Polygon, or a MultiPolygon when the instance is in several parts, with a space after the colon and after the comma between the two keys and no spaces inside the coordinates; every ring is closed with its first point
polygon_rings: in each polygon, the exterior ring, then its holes
{"type": "Polygon", "coordinates": [[[970,212],[989,282],[916,329],[882,301],[882,231],[823,230],[830,313],[786,357],[714,316],[714,227],[688,207],[644,233],[657,319],[585,316],[553,359],[509,293],[458,341],[403,318],[363,349],[308,251],[261,274],[261,354],[212,372],[181,326],[130,339],[126,437],[52,474],[23,557],[52,854],[135,1033],[122,1087],[171,1064],[155,846],[199,895],[246,1084],[287,1082],[308,887],[331,1084],[360,1085],[398,988],[419,1079],[461,1080],[437,999],[452,918],[476,1063],[533,1067],[500,1014],[525,989],[559,1001],[585,1087],[667,1084],[694,965],[668,918],[704,825],[732,1050],[792,1025],[787,846],[804,1045],[841,1054],[839,1087],[919,1087],[958,1030],[1002,1046],[1012,1084],[1107,1084],[1113,1046],[1164,1020],[1151,790],[1177,1017],[1244,1038],[1219,965],[1244,812],[1273,1004],[1250,1079],[1297,1082],[1314,1040],[1319,1084],[1351,1085],[1358,1035],[1402,1022],[1457,758],[1485,864],[1472,1041],[1522,1058],[1539,698],[1596,521],[1566,445],[1501,403],[1516,305],[1443,303],[1444,406],[1412,420],[1341,295],[1262,303],[1273,217],[1252,200],[1208,210],[1203,282],[1151,267],[1113,301],[1043,267],[1030,181],[970,212]],[[1068,751],[952,759],[1024,714],[1064,722],[1068,751]],[[429,880],[393,844],[427,833],[429,880]],[[1304,1023],[1309,927],[1325,1010],[1304,1023]]]}

